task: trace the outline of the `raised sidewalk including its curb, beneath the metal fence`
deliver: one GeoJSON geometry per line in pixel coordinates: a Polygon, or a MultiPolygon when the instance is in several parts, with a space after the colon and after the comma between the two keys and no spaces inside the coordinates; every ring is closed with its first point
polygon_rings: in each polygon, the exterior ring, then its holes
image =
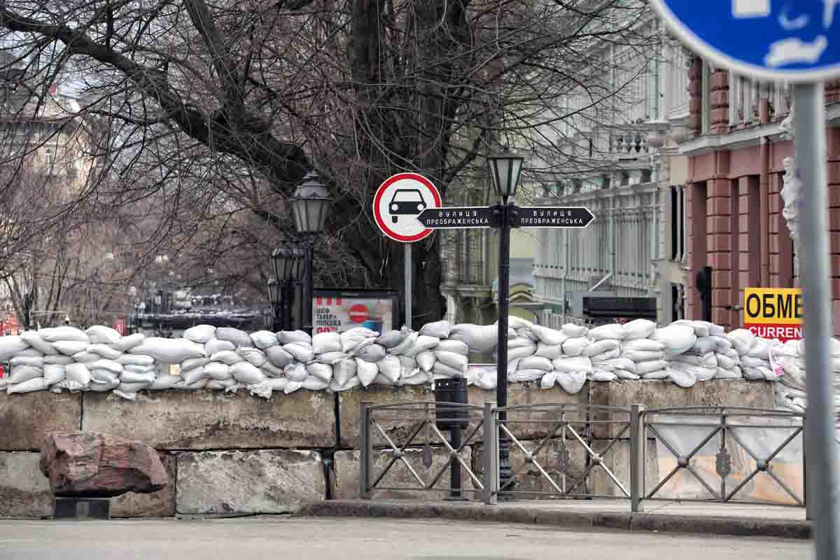
{"type": "Polygon", "coordinates": [[[296,516],[443,518],[574,529],[811,538],[811,521],[805,519],[805,508],[650,501],[644,504],[644,510],[643,513],[630,513],[626,500],[522,500],[498,505],[419,500],[327,500],[304,506],[296,516]]]}

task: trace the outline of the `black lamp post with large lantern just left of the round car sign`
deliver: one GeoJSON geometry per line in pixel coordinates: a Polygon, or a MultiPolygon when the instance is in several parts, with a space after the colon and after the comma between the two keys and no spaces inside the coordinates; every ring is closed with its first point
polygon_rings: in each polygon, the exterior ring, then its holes
{"type": "Polygon", "coordinates": [[[315,171],[310,171],[303,177],[302,183],[297,186],[291,196],[291,212],[295,216],[295,227],[297,233],[300,233],[303,238],[306,252],[301,320],[303,330],[309,334],[312,334],[312,266],[315,258],[315,236],[323,232],[330,202],[327,187],[315,171]]]}

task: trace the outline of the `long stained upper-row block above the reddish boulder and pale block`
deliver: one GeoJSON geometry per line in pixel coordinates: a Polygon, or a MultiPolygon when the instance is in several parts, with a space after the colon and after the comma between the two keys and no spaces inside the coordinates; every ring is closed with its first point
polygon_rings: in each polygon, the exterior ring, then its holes
{"type": "Polygon", "coordinates": [[[299,390],[269,400],[221,391],[150,391],[137,400],[85,393],[82,430],[138,439],[158,450],[333,447],[333,395],[299,390]]]}

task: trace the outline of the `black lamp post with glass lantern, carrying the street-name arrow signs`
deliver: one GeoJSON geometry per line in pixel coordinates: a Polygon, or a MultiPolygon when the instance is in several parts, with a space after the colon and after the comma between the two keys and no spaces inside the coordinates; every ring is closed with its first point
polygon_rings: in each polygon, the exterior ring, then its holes
{"type": "MultiPolygon", "coordinates": [[[[497,348],[496,365],[496,404],[500,408],[507,406],[507,313],[510,292],[511,273],[511,217],[512,208],[508,199],[517,194],[519,174],[522,171],[524,158],[512,154],[507,148],[504,152],[487,158],[490,175],[493,180],[493,190],[501,202],[496,204],[496,212],[500,214],[501,228],[499,238],[499,346],[497,348]]],[[[499,421],[507,421],[507,412],[499,413],[499,421]]],[[[511,468],[511,442],[507,435],[499,430],[499,490],[514,488],[513,471],[511,468]]],[[[511,495],[499,495],[500,500],[512,498],[511,495]]]]}

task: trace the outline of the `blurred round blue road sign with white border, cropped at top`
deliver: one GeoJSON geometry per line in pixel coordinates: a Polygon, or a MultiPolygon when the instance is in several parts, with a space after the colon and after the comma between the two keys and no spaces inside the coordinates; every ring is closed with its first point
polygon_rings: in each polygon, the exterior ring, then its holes
{"type": "Polygon", "coordinates": [[[742,76],[840,76],[840,0],[651,0],[688,46],[742,76]]]}

